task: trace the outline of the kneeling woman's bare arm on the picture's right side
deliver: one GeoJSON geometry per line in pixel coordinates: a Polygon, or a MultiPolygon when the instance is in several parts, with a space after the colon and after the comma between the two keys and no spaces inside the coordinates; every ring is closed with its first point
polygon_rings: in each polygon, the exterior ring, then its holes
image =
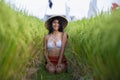
{"type": "Polygon", "coordinates": [[[58,64],[61,63],[61,61],[62,61],[65,46],[66,46],[66,43],[67,43],[67,34],[66,33],[62,33],[62,34],[63,34],[63,36],[62,36],[62,46],[61,46],[61,51],[60,51],[60,57],[59,57],[59,60],[58,60],[58,64]]]}

